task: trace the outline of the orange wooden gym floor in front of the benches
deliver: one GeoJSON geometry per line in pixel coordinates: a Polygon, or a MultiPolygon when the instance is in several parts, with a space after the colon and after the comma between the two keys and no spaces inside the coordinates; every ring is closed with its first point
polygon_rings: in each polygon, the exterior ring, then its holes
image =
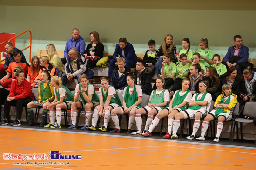
{"type": "MultiPolygon", "coordinates": [[[[162,139],[108,132],[88,132],[80,129],[60,130],[26,126],[0,126],[0,169],[3,170],[159,170],[170,168],[208,170],[256,170],[254,141],[219,143],[162,139]],[[50,155],[81,155],[81,160],[4,160],[4,153],[50,155]],[[31,162],[55,165],[31,165],[31,162]],[[15,164],[14,164],[15,163],[15,164]],[[16,163],[26,163],[17,165],[16,163]],[[30,164],[27,164],[30,163],[30,164]],[[61,165],[63,163],[64,165],[61,165]],[[67,164],[67,165],[65,165],[67,164]]],[[[186,135],[185,135],[186,136],[186,135]]]]}

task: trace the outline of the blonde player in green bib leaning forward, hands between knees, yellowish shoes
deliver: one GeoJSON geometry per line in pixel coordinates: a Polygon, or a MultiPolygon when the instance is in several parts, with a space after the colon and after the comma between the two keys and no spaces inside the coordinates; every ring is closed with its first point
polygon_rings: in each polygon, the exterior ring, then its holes
{"type": "Polygon", "coordinates": [[[95,131],[96,124],[99,116],[104,116],[104,125],[99,128],[102,132],[107,131],[108,122],[110,119],[110,112],[112,109],[121,106],[121,101],[113,86],[109,85],[106,77],[101,77],[101,88],[99,88],[100,105],[95,107],[92,126],[88,127],[88,130],[95,131]]]}

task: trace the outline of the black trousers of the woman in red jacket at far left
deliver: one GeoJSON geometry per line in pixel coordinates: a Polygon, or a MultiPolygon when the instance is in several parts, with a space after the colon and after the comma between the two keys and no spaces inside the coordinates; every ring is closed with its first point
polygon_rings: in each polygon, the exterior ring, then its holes
{"type": "Polygon", "coordinates": [[[11,106],[16,106],[16,119],[21,118],[23,107],[27,107],[27,104],[32,101],[30,98],[25,98],[25,99],[18,99],[14,101],[7,101],[5,100],[5,107],[4,107],[4,118],[9,119],[9,113],[11,110],[11,106]]]}

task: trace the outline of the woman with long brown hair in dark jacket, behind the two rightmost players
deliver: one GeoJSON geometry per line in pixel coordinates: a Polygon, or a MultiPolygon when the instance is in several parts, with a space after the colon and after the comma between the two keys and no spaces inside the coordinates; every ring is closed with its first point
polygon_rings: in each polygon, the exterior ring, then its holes
{"type": "MultiPolygon", "coordinates": [[[[200,79],[202,80],[202,74],[199,74],[200,79]]],[[[219,86],[220,86],[220,79],[219,75],[214,67],[207,67],[205,78],[203,79],[208,82],[207,92],[212,95],[212,100],[216,101],[217,97],[219,96],[219,86]]]]}

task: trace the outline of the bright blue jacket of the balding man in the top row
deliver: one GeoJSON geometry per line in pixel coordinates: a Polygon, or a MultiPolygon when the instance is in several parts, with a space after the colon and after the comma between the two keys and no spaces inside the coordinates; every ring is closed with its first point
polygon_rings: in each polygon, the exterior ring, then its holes
{"type": "Polygon", "coordinates": [[[73,37],[67,40],[66,47],[64,50],[65,58],[68,57],[69,50],[72,48],[76,48],[81,53],[81,55],[83,55],[84,50],[85,50],[84,38],[79,36],[76,41],[73,41],[73,37]]]}

